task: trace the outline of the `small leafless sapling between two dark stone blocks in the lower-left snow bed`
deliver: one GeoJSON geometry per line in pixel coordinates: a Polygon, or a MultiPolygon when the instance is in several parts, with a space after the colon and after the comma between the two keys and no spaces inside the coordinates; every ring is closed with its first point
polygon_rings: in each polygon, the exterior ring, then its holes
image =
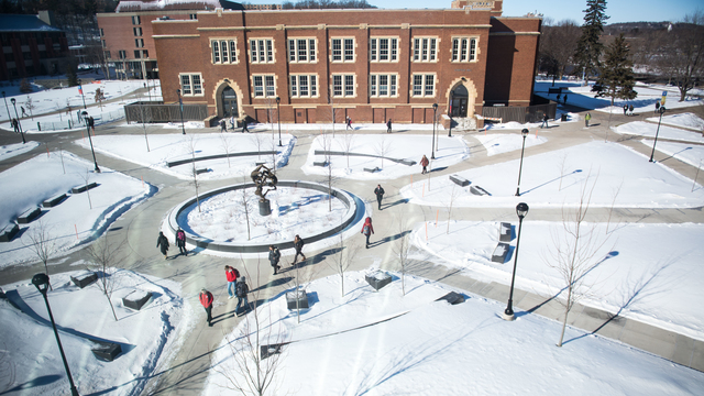
{"type": "Polygon", "coordinates": [[[118,286],[116,274],[118,273],[117,264],[120,262],[118,257],[119,252],[120,243],[110,242],[107,233],[87,249],[89,260],[88,270],[100,273],[96,285],[100,289],[100,293],[108,299],[114,321],[118,321],[118,315],[114,312],[112,305],[112,293],[116,286],[118,286]]]}

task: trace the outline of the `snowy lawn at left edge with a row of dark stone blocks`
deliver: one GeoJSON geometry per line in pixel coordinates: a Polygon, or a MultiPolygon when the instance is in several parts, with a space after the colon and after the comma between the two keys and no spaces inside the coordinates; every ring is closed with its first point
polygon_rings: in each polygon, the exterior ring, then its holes
{"type": "Polygon", "coordinates": [[[120,215],[156,191],[148,184],[107,167],[96,174],[91,162],[61,153],[40,154],[0,174],[0,227],[44,200],[68,193],[58,206],[42,209],[38,219],[20,224],[20,232],[11,242],[0,243],[0,266],[38,260],[32,251],[31,237],[42,226],[61,254],[98,237],[120,215]],[[94,182],[98,187],[70,194],[73,187],[94,182]]]}

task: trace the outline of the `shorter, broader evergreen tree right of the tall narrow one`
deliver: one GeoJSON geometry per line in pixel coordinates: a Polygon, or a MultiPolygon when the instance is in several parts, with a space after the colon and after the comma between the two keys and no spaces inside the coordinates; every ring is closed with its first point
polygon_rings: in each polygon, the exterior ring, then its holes
{"type": "Polygon", "coordinates": [[[634,90],[634,63],[630,59],[630,47],[622,33],[606,50],[606,57],[598,69],[598,79],[592,88],[597,97],[614,99],[635,99],[638,94],[634,90]]]}

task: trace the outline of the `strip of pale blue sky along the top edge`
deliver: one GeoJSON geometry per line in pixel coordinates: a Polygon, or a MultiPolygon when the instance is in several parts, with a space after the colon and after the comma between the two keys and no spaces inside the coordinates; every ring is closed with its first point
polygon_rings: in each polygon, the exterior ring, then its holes
{"type": "MultiPolygon", "coordinates": [[[[282,3],[272,0],[249,0],[252,4],[282,3]]],[[[292,0],[292,2],[296,2],[292,0]]],[[[367,0],[378,8],[450,8],[451,0],[429,2],[428,0],[367,0]],[[438,4],[428,7],[428,4],[438,4]]],[[[607,0],[606,14],[610,16],[607,23],[639,22],[639,21],[681,21],[682,18],[696,10],[704,11],[702,0],[607,0]]],[[[528,12],[538,11],[556,22],[571,19],[579,24],[584,20],[582,12],[586,8],[586,0],[504,0],[504,16],[521,16],[528,12]]]]}

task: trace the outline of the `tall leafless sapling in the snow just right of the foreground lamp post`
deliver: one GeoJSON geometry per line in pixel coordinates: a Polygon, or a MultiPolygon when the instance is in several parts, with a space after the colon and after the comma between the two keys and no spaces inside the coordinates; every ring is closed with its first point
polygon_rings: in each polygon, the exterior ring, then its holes
{"type": "Polygon", "coordinates": [[[566,293],[564,300],[558,299],[564,307],[558,346],[562,346],[570,311],[593,286],[585,283],[585,276],[601,263],[595,257],[608,239],[597,234],[596,223],[585,222],[597,178],[590,183],[587,175],[576,208],[562,208],[562,228],[551,233],[552,249],[543,257],[547,265],[558,272],[564,285],[559,294],[566,293]]]}

